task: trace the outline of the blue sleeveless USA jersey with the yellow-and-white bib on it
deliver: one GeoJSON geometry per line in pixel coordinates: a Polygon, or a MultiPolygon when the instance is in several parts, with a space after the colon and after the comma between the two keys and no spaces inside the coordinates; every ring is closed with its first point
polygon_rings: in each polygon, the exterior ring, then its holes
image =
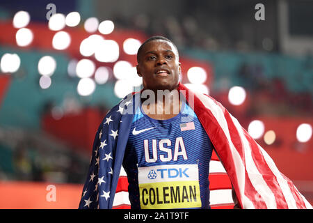
{"type": "Polygon", "coordinates": [[[210,208],[211,154],[211,141],[188,105],[167,120],[138,107],[123,161],[131,208],[210,208]]]}

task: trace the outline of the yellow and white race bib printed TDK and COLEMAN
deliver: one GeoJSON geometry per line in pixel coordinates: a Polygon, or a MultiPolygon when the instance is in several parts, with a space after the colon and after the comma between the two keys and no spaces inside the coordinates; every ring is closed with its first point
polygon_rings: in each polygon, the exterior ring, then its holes
{"type": "Polygon", "coordinates": [[[138,167],[142,209],[200,208],[197,164],[138,167]]]}

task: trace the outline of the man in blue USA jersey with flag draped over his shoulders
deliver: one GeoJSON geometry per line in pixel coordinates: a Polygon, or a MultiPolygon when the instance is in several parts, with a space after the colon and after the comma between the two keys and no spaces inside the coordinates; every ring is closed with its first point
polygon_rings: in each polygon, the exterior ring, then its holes
{"type": "Polygon", "coordinates": [[[312,208],[220,103],[179,83],[170,40],[149,38],[137,60],[143,91],[127,95],[99,126],[79,208],[112,208],[122,165],[131,208],[210,208],[213,149],[241,208],[312,208]]]}

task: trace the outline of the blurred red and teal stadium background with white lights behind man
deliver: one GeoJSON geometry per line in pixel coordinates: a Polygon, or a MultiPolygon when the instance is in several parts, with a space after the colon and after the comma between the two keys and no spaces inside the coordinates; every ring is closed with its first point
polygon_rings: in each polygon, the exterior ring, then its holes
{"type": "Polygon", "coordinates": [[[97,127],[140,88],[136,51],[152,35],[313,204],[312,12],[309,0],[1,0],[0,208],[78,208],[97,127]]]}

